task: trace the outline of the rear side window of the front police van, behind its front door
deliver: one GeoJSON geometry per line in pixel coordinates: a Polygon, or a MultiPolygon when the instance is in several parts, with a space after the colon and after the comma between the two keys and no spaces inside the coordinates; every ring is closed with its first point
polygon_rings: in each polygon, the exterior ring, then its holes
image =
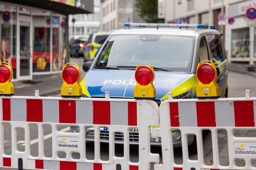
{"type": "Polygon", "coordinates": [[[222,41],[219,35],[207,35],[206,40],[209,43],[212,53],[213,63],[218,66],[225,60],[225,52],[222,47],[222,41]]]}

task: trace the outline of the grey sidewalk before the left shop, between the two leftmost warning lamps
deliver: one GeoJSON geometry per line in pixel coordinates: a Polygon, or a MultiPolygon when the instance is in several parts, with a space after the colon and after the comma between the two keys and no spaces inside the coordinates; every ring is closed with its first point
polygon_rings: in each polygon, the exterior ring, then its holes
{"type": "Polygon", "coordinates": [[[40,96],[59,94],[60,97],[60,88],[63,80],[61,74],[54,74],[42,79],[13,82],[13,84],[15,96],[34,96],[34,91],[39,90],[40,96]]]}

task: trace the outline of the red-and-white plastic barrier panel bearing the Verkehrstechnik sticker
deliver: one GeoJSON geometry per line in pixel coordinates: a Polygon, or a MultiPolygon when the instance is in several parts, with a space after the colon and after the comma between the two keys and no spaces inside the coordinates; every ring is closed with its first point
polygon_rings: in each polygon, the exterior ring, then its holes
{"type": "Polygon", "coordinates": [[[150,153],[150,126],[159,125],[154,101],[21,96],[0,97],[0,101],[0,167],[146,170],[150,162],[159,162],[159,155],[150,153]],[[130,128],[139,134],[131,136],[130,128]],[[101,148],[104,140],[109,148],[101,148]],[[123,144],[121,157],[115,155],[115,140],[123,144]],[[134,163],[129,159],[129,143],[136,140],[139,161],[134,163]],[[86,141],[94,145],[87,148],[86,141]],[[102,158],[101,149],[109,152],[102,158]]]}

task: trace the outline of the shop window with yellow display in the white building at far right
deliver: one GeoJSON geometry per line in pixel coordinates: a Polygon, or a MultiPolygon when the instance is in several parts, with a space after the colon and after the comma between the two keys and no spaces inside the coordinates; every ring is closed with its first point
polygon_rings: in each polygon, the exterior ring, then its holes
{"type": "Polygon", "coordinates": [[[231,30],[231,57],[248,58],[250,45],[249,28],[231,30]]]}

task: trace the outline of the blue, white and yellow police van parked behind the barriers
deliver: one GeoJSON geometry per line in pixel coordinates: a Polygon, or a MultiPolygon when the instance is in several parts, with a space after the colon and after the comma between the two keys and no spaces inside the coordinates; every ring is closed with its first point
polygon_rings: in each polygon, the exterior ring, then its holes
{"type": "MultiPolygon", "coordinates": [[[[203,24],[128,23],[124,26],[108,37],[93,62],[85,62],[86,75],[80,82],[85,97],[105,97],[109,91],[113,98],[133,98],[134,70],[139,63],[150,63],[155,70],[153,83],[158,104],[168,98],[169,92],[175,99],[196,98],[196,68],[204,60],[212,61],[217,67],[220,97],[227,97],[227,60],[217,30],[204,29],[203,24]]],[[[106,136],[104,130],[102,133],[106,136]]],[[[180,146],[180,136],[175,136],[174,144],[180,146]]],[[[188,139],[188,144],[192,142],[193,138],[188,139]]]]}

